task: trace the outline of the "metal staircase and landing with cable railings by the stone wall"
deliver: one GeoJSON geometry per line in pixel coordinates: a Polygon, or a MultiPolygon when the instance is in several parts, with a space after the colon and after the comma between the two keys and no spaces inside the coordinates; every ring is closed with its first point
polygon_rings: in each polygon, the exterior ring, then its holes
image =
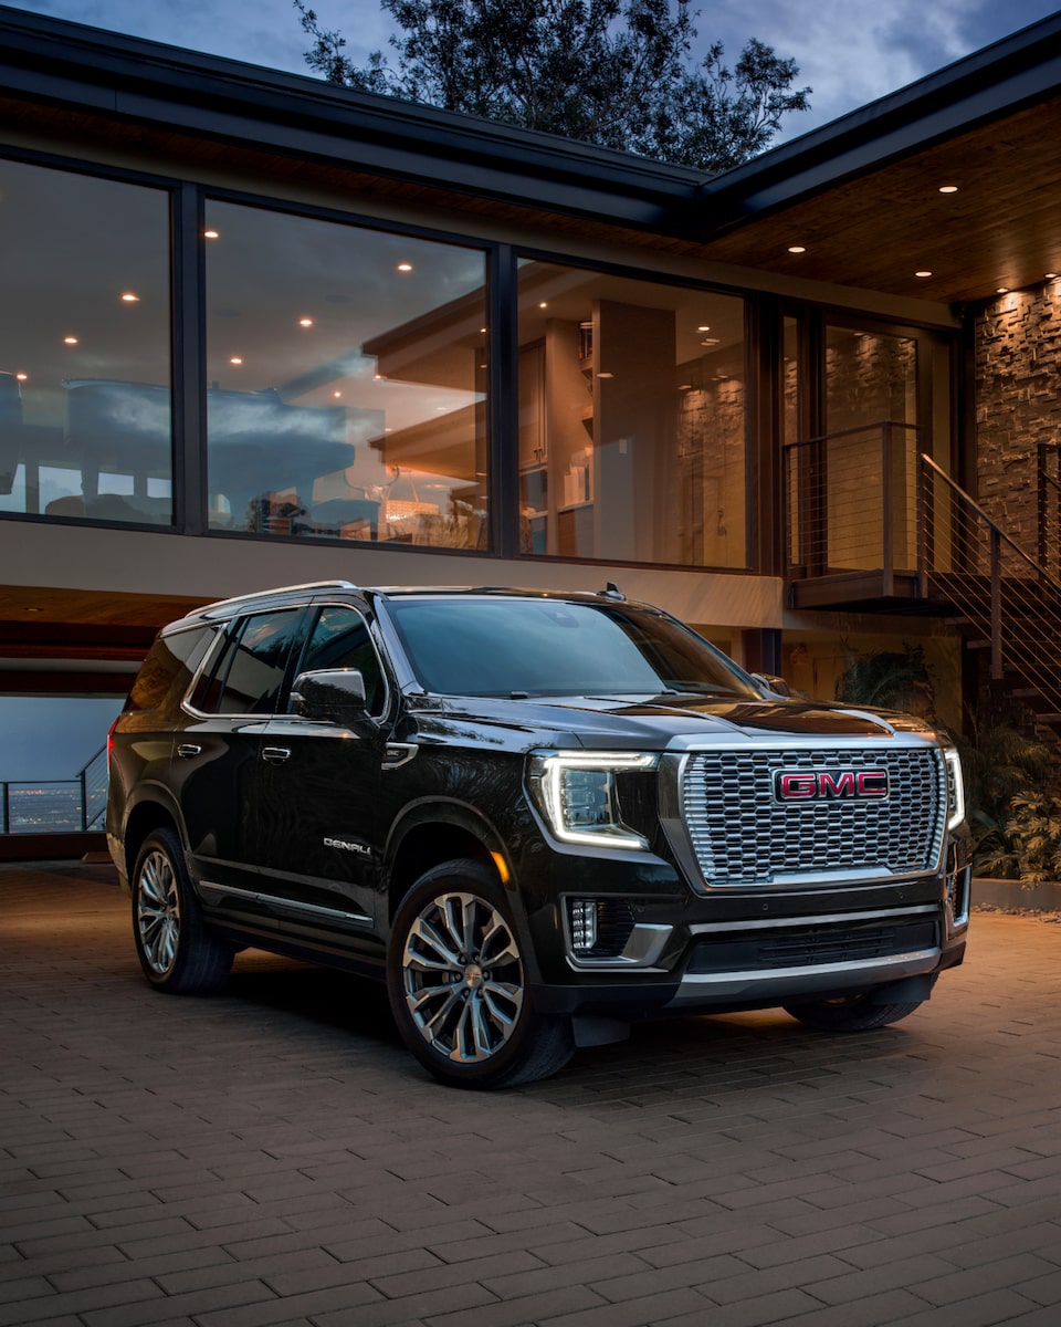
{"type": "Polygon", "coordinates": [[[794,608],[935,613],[983,653],[981,698],[1061,748],[1061,447],[1037,450],[1036,548],[1025,549],[885,421],[785,447],[794,608]]]}

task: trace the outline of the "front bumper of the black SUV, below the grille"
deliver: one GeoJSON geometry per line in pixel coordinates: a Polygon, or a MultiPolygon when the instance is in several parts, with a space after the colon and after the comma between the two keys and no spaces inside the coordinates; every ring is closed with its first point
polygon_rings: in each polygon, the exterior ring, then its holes
{"type": "MultiPolygon", "coordinates": [[[[951,856],[942,876],[794,893],[719,892],[680,905],[641,896],[623,950],[542,965],[541,1013],[637,1019],[768,1009],[861,994],[962,962],[971,872],[951,856]],[[639,961],[638,955],[645,955],[639,961]],[[552,979],[550,979],[552,978],[552,979]]],[[[562,917],[566,896],[556,913],[562,917]]],[[[926,985],[926,995],[931,982],[926,985]]]]}

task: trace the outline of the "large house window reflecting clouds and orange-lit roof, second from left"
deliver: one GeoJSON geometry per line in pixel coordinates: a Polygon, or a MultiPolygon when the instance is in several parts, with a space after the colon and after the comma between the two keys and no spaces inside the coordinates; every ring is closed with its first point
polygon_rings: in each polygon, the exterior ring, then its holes
{"type": "Polygon", "coordinates": [[[214,529],[487,547],[485,256],[211,203],[214,529]]]}

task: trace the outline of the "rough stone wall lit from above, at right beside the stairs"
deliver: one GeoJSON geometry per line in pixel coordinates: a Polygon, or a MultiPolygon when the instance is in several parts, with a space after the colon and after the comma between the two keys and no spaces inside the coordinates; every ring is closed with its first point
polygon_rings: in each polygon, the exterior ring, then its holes
{"type": "Polygon", "coordinates": [[[1061,281],[976,314],[976,498],[1034,556],[1040,442],[1061,442],[1061,281]]]}

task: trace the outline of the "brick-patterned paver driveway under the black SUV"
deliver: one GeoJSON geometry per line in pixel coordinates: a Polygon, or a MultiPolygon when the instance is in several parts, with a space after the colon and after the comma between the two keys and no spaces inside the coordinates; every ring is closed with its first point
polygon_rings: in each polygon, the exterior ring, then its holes
{"type": "Polygon", "coordinates": [[[480,1096],[383,993],[143,982],[109,867],[0,867],[0,1327],[1046,1324],[1061,925],[977,913],[895,1028],[637,1028],[480,1096]]]}

